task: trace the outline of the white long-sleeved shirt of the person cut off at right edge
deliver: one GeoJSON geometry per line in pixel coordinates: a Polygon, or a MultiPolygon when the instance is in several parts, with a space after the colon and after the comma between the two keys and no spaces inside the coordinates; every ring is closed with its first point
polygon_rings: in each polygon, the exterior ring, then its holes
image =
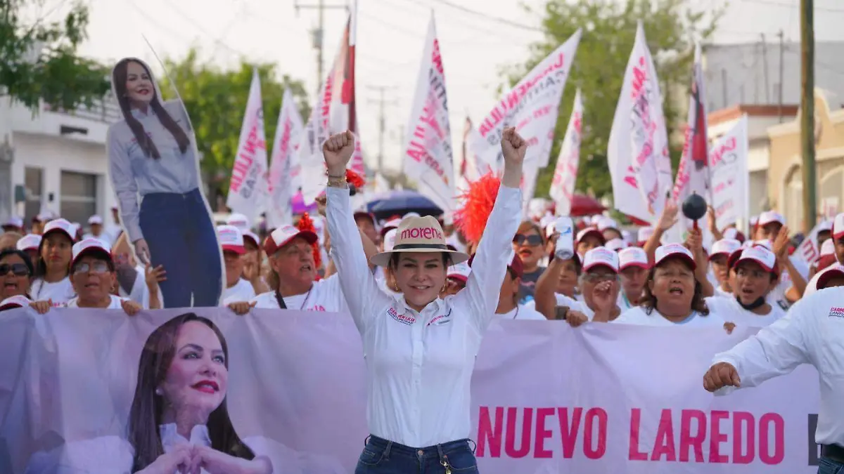
{"type": "MultiPolygon", "coordinates": [[[[820,378],[820,411],[814,439],[844,446],[844,288],[826,288],[795,303],[787,315],[754,337],[716,354],[738,371],[741,388],[812,364],[820,378]]],[[[716,392],[736,390],[727,386],[716,392]]]]}

